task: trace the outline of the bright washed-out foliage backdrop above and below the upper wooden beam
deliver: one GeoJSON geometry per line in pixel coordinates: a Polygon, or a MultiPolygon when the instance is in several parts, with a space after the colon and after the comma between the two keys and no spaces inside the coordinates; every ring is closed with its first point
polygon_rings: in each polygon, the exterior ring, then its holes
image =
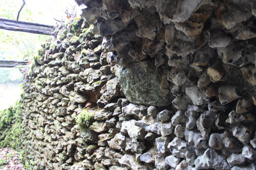
{"type": "MultiPolygon", "coordinates": [[[[22,6],[22,0],[9,1],[1,0],[0,18],[17,19],[17,13],[22,6]]],[[[38,24],[55,25],[56,20],[63,22],[67,20],[67,14],[76,15],[75,1],[45,0],[38,5],[38,1],[26,0],[26,5],[22,9],[19,20],[24,22],[35,22],[38,24]]],[[[1,59],[29,59],[36,54],[36,47],[50,38],[48,35],[36,35],[21,33],[18,31],[0,30],[0,58],[1,59]]]]}

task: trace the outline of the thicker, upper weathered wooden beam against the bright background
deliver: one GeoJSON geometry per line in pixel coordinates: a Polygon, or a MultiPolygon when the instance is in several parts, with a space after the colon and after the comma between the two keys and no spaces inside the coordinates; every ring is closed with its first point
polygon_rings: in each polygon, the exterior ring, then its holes
{"type": "Polygon", "coordinates": [[[10,31],[22,31],[39,35],[54,35],[53,26],[36,24],[32,22],[22,22],[17,20],[0,19],[0,29],[10,31]]]}

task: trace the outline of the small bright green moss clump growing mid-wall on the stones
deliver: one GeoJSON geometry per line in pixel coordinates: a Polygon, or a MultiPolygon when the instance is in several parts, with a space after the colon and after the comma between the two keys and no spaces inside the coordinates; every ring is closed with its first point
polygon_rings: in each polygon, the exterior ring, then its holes
{"type": "Polygon", "coordinates": [[[79,128],[83,129],[89,127],[92,124],[94,115],[95,111],[88,111],[87,109],[81,111],[76,117],[76,123],[79,128]]]}

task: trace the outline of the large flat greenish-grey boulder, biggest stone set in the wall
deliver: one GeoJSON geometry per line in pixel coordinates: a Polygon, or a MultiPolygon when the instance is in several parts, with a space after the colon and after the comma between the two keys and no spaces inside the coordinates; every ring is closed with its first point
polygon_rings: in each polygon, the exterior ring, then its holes
{"type": "Polygon", "coordinates": [[[162,79],[157,68],[147,61],[122,68],[119,81],[122,92],[132,103],[163,106],[171,102],[166,79],[162,79]]]}

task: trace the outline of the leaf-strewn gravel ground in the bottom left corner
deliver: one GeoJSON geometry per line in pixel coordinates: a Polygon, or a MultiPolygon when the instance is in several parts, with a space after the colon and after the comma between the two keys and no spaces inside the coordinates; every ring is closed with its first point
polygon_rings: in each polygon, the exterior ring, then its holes
{"type": "Polygon", "coordinates": [[[0,149],[0,169],[24,169],[17,151],[10,148],[0,149]]]}

